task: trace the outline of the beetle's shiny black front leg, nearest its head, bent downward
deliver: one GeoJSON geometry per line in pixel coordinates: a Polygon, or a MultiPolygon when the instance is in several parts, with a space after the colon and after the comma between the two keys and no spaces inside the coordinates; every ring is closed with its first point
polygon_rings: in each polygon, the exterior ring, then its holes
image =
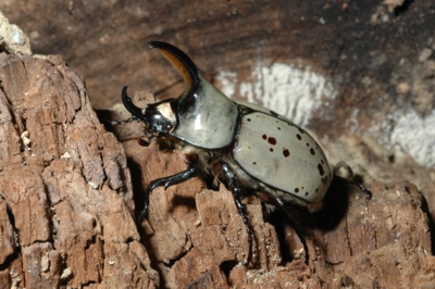
{"type": "Polygon", "coordinates": [[[147,189],[145,190],[145,204],[144,209],[140,211],[140,215],[136,221],[137,225],[140,225],[147,214],[148,204],[149,204],[149,194],[157,188],[164,186],[164,189],[167,189],[171,186],[184,183],[189,180],[192,177],[198,176],[198,164],[190,163],[186,171],[183,171],[176,175],[158,178],[149,184],[147,189]]]}

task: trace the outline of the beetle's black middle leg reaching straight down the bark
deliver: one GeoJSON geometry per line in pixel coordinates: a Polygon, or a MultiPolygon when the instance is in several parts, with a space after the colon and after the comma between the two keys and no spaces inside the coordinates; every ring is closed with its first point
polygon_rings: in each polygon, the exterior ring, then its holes
{"type": "Polygon", "coordinates": [[[246,231],[248,233],[248,243],[249,243],[249,252],[248,252],[248,263],[251,261],[252,254],[252,230],[248,222],[248,216],[246,215],[245,205],[240,200],[240,188],[236,184],[236,176],[231,169],[227,163],[222,162],[222,172],[224,172],[226,179],[228,180],[229,190],[233,192],[234,202],[236,203],[238,214],[241,216],[244,221],[246,231]]]}

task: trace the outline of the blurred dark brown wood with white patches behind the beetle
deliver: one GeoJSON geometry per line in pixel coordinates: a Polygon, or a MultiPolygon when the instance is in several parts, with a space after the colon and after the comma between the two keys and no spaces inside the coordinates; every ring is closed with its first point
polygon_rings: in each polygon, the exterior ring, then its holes
{"type": "Polygon", "coordinates": [[[332,163],[412,180],[435,215],[433,1],[8,0],[0,9],[34,53],[60,54],[87,79],[95,109],[119,103],[124,85],[179,96],[181,76],[147,45],[166,41],[228,97],[315,131],[332,163]]]}

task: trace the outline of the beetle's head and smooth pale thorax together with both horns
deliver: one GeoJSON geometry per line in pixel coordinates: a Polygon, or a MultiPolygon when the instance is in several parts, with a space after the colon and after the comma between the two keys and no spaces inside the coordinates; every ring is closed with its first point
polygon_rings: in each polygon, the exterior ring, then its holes
{"type": "Polygon", "coordinates": [[[184,92],[176,99],[163,100],[139,109],[132,103],[124,87],[125,108],[147,125],[150,135],[144,141],[171,135],[206,149],[222,149],[233,142],[237,128],[238,106],[207,81],[195,63],[178,48],[160,41],[149,42],[157,48],[183,76],[184,92]]]}

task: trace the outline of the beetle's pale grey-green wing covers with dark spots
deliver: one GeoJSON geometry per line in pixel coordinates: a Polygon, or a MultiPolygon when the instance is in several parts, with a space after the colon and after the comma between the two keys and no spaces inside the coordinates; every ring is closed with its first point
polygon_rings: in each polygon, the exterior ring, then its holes
{"type": "Polygon", "coordinates": [[[332,171],[309,134],[261,108],[241,117],[236,138],[233,158],[249,175],[309,203],[321,202],[332,171]]]}

